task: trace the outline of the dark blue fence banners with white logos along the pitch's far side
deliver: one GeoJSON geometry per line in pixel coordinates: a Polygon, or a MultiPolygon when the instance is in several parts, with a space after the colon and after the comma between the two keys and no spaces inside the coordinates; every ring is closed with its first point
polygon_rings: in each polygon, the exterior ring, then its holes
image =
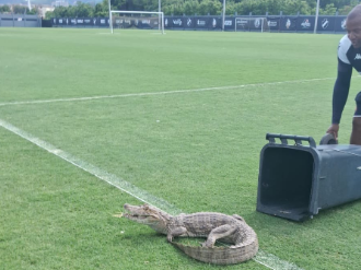
{"type": "MultiPolygon", "coordinates": [[[[240,15],[225,16],[224,31],[259,32],[261,23],[257,19],[266,19],[267,25],[266,27],[264,25],[263,30],[268,32],[312,33],[315,28],[314,15],[240,15]],[[245,21],[240,19],[251,20],[245,25],[245,21]]],[[[113,27],[154,28],[151,23],[147,24],[148,21],[152,22],[142,16],[130,16],[127,24],[118,25],[114,22],[113,27]]],[[[345,21],[346,16],[343,15],[318,16],[316,31],[317,33],[345,33],[345,21]]],[[[50,22],[53,27],[109,27],[108,17],[54,17],[50,22]]],[[[158,27],[158,25],[155,26],[158,27]]],[[[221,31],[222,16],[164,16],[164,27],[165,30],[178,31],[221,31]]]]}

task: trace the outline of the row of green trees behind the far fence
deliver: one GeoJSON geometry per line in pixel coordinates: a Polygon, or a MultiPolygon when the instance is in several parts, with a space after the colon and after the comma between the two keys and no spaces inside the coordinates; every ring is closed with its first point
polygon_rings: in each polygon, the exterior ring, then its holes
{"type": "MultiPolygon", "coordinates": [[[[346,15],[359,4],[360,0],[319,0],[321,15],[346,15]]],[[[112,10],[128,11],[158,11],[159,0],[110,0],[112,10]]],[[[161,0],[162,11],[165,15],[220,15],[223,0],[161,0]]],[[[0,7],[7,9],[7,5],[0,7]]],[[[13,7],[13,13],[25,13],[25,7],[13,7]],[[22,9],[21,9],[22,8],[22,9]]],[[[4,11],[5,12],[5,11],[4,11]]],[[[27,14],[34,14],[32,9],[27,14]]],[[[316,0],[226,0],[226,15],[313,15],[316,12],[316,0]]],[[[70,7],[57,7],[53,12],[46,13],[46,19],[51,17],[106,17],[108,16],[108,0],[95,5],[77,2],[70,7]]]]}

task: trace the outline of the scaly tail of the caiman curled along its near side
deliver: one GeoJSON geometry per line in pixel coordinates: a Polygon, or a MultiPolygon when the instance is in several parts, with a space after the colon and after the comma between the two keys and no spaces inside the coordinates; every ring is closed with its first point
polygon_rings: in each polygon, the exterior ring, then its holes
{"type": "Polygon", "coordinates": [[[196,260],[214,265],[240,263],[252,259],[258,251],[257,237],[251,243],[229,247],[197,247],[174,242],[172,244],[196,260]]]}

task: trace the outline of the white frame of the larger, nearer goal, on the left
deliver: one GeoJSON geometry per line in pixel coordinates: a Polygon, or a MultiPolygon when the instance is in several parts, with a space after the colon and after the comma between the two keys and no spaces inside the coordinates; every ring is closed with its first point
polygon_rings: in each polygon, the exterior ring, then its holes
{"type": "Polygon", "coordinates": [[[109,27],[110,33],[114,33],[114,25],[118,27],[124,27],[125,25],[140,24],[158,25],[158,28],[164,34],[164,13],[163,12],[152,12],[152,11],[125,11],[125,10],[110,10],[109,12],[109,27]],[[139,14],[147,16],[126,16],[126,14],[139,14]],[[156,16],[154,16],[156,15],[156,16]]]}

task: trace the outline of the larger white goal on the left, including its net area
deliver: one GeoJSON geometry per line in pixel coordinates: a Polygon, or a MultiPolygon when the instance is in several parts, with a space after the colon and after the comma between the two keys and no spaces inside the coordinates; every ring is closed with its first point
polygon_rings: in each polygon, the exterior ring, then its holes
{"type": "Polygon", "coordinates": [[[109,24],[114,28],[158,30],[164,34],[163,12],[112,10],[109,24]]]}

